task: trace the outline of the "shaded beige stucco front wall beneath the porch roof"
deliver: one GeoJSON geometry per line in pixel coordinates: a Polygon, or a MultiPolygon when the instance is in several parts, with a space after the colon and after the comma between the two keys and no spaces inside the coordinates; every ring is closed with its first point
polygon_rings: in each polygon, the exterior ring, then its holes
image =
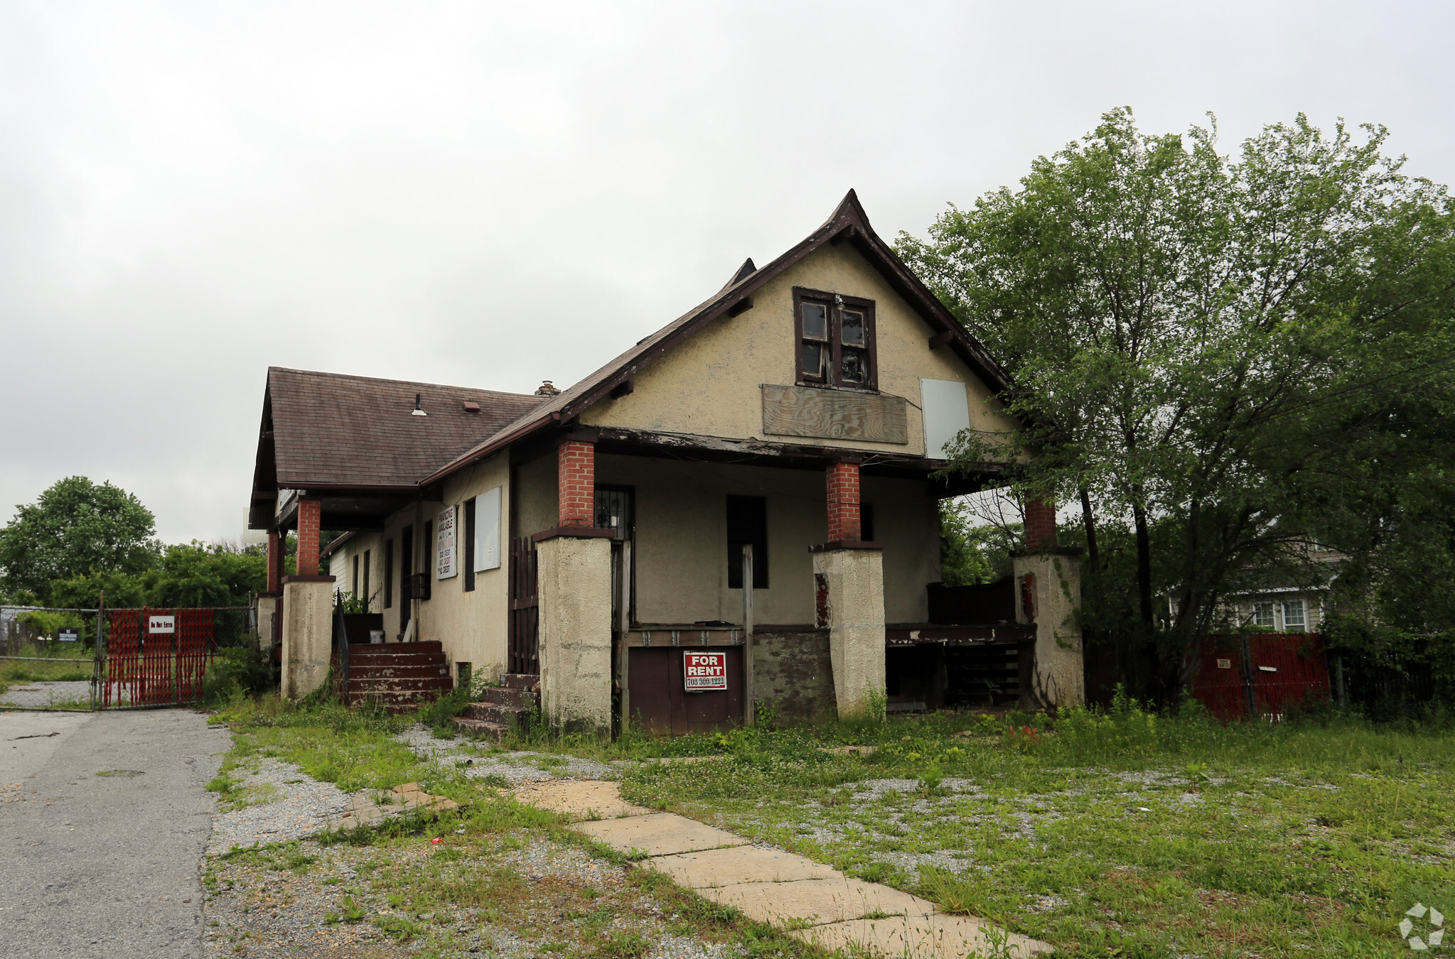
{"type": "MultiPolygon", "coordinates": [[[[517,474],[522,485],[524,475],[517,474]]],[[[809,546],[828,535],[822,472],[598,455],[597,482],[636,488],[637,620],[742,620],[742,590],[728,588],[732,494],[767,498],[768,588],[754,590],[757,622],[813,622],[809,546]]],[[[864,477],[861,497],[873,504],[874,536],[885,543],[886,615],[890,622],[924,622],[924,587],[940,578],[938,514],[928,484],[864,477]]]]}

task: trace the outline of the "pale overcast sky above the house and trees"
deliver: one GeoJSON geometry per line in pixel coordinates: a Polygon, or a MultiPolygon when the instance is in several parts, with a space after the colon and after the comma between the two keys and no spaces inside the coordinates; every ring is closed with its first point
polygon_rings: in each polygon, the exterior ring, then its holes
{"type": "Polygon", "coordinates": [[[856,187],[876,230],[1129,105],[1455,180],[1448,3],[0,0],[0,522],[243,527],[269,365],[565,387],[856,187]]]}

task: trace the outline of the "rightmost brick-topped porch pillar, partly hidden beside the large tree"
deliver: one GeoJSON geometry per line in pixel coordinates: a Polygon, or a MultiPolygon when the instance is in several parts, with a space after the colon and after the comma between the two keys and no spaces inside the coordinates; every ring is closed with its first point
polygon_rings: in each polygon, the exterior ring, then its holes
{"type": "Polygon", "coordinates": [[[1036,668],[1029,697],[1035,706],[1085,703],[1081,654],[1081,551],[1056,546],[1056,506],[1026,503],[1026,548],[1011,554],[1016,622],[1036,626],[1036,668]]]}

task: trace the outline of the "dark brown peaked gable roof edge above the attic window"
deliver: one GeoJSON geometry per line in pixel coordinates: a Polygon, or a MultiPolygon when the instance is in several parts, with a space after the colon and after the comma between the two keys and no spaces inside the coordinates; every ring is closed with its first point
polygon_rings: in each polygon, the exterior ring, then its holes
{"type": "Polygon", "coordinates": [[[691,311],[666,324],[652,336],[639,340],[630,350],[585,376],[559,395],[530,408],[515,421],[503,426],[495,436],[455,456],[447,465],[426,477],[420,485],[439,481],[471,462],[489,456],[509,443],[563,423],[581,414],[618,385],[631,379],[639,371],[650,366],[694,333],[723,315],[738,315],[752,307],[752,294],[762,285],[780,276],[794,263],[815,250],[838,243],[851,243],[854,248],[877,269],[896,294],[937,330],[930,339],[931,346],[949,346],[991,388],[1001,392],[1010,387],[1010,378],[989,352],[944,308],[944,304],[914,275],[893,248],[885,243],[858,203],[858,196],[850,190],[822,227],[802,243],[761,269],[754,269],[746,260],[733,278],[717,294],[691,311]]]}

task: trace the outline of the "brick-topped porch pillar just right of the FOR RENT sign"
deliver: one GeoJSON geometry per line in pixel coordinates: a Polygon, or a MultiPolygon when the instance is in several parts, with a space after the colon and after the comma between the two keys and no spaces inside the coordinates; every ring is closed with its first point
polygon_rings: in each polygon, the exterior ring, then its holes
{"type": "Polygon", "coordinates": [[[885,568],[879,543],[863,542],[858,459],[828,466],[828,542],[813,548],[815,620],[828,628],[840,719],[885,702],[885,568]]]}

